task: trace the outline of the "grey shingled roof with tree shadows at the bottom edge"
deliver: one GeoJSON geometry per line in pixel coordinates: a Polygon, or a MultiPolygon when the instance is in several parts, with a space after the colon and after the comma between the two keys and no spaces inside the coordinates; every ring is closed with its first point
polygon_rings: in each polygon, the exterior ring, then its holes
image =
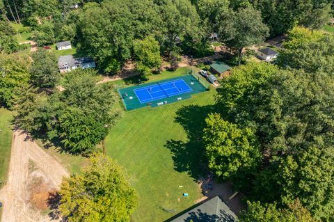
{"type": "Polygon", "coordinates": [[[237,216],[218,196],[196,205],[181,215],[173,216],[168,222],[234,222],[237,216]]]}

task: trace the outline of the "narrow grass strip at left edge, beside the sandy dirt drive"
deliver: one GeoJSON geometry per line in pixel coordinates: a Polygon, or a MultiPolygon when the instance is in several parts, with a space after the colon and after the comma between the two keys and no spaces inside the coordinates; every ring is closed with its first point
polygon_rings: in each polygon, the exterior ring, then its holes
{"type": "Polygon", "coordinates": [[[7,180],[8,165],[10,161],[10,148],[12,145],[13,132],[10,129],[10,111],[0,108],[0,188],[7,180]]]}

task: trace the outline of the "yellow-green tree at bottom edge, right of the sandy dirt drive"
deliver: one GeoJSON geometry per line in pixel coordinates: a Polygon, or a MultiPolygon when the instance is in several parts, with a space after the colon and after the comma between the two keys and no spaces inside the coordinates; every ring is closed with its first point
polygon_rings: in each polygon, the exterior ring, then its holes
{"type": "Polygon", "coordinates": [[[59,210],[68,221],[129,221],[137,203],[120,166],[104,155],[91,157],[80,175],[65,178],[59,194],[59,210]]]}

